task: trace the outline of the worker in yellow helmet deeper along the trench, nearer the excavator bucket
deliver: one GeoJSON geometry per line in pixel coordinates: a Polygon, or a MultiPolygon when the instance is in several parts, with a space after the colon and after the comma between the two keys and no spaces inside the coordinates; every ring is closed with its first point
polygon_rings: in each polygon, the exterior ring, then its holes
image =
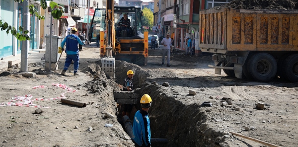
{"type": "MultiPolygon", "coordinates": [[[[127,77],[124,79],[123,91],[132,91],[134,90],[134,85],[132,79],[134,77],[134,72],[132,70],[127,71],[127,77]]],[[[133,110],[133,104],[123,104],[124,108],[122,111],[122,117],[127,115],[130,117],[130,113],[133,110]]]]}

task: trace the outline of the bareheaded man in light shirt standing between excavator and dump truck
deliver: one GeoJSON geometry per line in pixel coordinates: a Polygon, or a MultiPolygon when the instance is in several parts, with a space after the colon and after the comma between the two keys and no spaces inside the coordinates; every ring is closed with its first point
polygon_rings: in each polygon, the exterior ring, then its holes
{"type": "Polygon", "coordinates": [[[167,67],[170,67],[170,53],[171,53],[171,39],[170,39],[170,34],[166,34],[166,37],[162,39],[161,45],[163,45],[162,48],[162,63],[161,65],[164,65],[164,57],[167,55],[167,67]]]}

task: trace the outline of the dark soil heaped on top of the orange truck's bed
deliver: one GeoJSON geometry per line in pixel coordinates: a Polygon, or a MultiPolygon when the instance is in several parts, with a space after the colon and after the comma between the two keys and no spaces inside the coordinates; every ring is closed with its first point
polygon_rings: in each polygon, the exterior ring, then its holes
{"type": "MultiPolygon", "coordinates": [[[[236,9],[298,9],[297,0],[232,0],[224,7],[236,9]]],[[[219,6],[222,7],[222,6],[219,6]]],[[[219,8],[218,7],[218,8],[219,8]]]]}

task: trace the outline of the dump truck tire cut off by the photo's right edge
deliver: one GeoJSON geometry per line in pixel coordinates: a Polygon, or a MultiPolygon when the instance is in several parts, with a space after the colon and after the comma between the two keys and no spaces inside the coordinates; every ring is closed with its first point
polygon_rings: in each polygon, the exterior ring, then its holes
{"type": "Polygon", "coordinates": [[[298,54],[287,57],[283,65],[286,78],[291,82],[298,82],[298,54]]]}

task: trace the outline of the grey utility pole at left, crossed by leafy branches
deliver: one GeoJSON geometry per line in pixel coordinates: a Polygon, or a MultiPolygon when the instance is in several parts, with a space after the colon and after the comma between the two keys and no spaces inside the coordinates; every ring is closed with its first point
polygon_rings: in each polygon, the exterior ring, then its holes
{"type": "MultiPolygon", "coordinates": [[[[24,30],[30,31],[30,14],[29,14],[29,2],[23,2],[23,27],[24,30]]],[[[29,49],[29,40],[22,41],[22,50],[21,50],[21,69],[20,72],[28,72],[28,49],[29,49]]]]}

